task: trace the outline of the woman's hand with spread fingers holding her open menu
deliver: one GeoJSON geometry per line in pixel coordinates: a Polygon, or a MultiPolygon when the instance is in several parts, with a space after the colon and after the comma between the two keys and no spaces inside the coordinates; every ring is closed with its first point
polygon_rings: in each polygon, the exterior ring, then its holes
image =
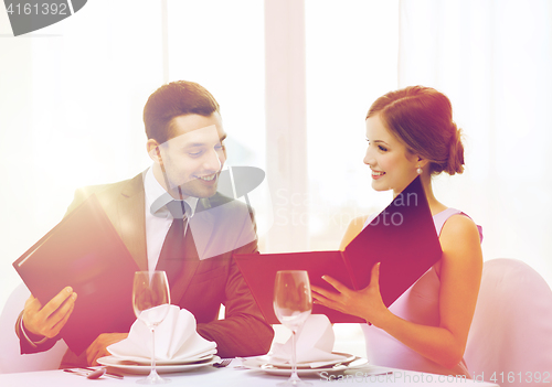
{"type": "Polygon", "coordinates": [[[391,313],[383,303],[380,293],[380,264],[374,265],[370,284],[362,290],[351,290],[329,276],[323,276],[322,279],[338,292],[312,286],[315,303],[357,315],[379,327],[381,327],[385,316],[391,313]]]}

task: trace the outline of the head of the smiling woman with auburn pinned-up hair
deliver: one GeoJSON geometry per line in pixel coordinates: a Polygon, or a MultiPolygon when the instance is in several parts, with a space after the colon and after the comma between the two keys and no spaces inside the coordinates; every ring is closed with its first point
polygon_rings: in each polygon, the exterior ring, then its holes
{"type": "Polygon", "coordinates": [[[406,185],[393,181],[412,181],[413,165],[417,174],[426,165],[432,175],[464,172],[464,146],[453,121],[453,107],[445,95],[432,88],[406,87],[378,98],[367,115],[367,140],[371,146],[364,163],[372,170],[375,191],[393,187],[394,195],[399,194],[406,185]],[[388,175],[393,170],[412,173],[388,175]]]}

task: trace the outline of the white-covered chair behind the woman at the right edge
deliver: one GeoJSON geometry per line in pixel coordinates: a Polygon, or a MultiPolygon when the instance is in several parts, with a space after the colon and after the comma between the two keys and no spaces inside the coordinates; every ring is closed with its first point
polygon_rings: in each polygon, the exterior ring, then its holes
{"type": "Polygon", "coordinates": [[[552,384],[552,291],[534,269],[506,258],[484,264],[464,358],[478,380],[552,384]]]}

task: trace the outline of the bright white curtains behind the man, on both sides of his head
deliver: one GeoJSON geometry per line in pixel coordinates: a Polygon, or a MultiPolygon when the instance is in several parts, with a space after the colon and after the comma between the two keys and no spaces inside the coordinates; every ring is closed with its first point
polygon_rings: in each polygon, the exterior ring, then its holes
{"type": "Polygon", "coordinates": [[[226,164],[264,166],[263,2],[171,0],[168,25],[163,3],[88,1],[18,37],[0,4],[0,309],[21,281],[11,264],[61,221],[75,189],[150,165],[141,115],[166,77],[216,97],[226,164]]]}

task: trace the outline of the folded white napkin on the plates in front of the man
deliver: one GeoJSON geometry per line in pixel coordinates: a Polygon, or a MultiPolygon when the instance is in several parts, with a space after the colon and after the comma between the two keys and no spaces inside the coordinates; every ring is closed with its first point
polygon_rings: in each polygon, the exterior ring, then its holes
{"type": "MultiPolygon", "coordinates": [[[[155,313],[156,308],[142,313],[155,313]]],[[[201,337],[195,327],[195,318],[192,313],[177,305],[170,305],[167,318],[156,329],[156,361],[177,363],[215,354],[216,343],[201,337]]],[[[138,319],[130,327],[128,337],[109,345],[107,351],[121,359],[149,362],[151,331],[138,319]]]]}

